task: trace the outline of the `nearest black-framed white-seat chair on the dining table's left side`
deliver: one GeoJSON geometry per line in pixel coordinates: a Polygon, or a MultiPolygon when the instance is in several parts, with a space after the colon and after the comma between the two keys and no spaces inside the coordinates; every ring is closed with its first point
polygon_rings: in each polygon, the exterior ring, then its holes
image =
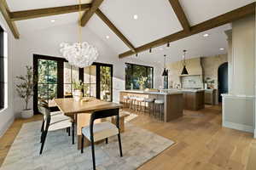
{"type": "MultiPolygon", "coordinates": [[[[44,149],[44,143],[45,139],[47,137],[48,131],[56,131],[61,130],[65,128],[71,128],[72,127],[72,143],[74,144],[74,122],[73,120],[68,116],[51,116],[49,107],[45,103],[38,103],[38,111],[40,111],[44,115],[44,127],[43,132],[41,133],[41,149],[40,149],[40,155],[43,152],[44,149]]],[[[70,130],[69,130],[70,135],[70,130]]]]}

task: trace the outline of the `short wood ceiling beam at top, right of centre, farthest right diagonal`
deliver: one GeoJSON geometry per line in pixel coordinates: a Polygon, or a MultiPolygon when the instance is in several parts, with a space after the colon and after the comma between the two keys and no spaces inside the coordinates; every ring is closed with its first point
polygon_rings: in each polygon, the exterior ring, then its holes
{"type": "Polygon", "coordinates": [[[169,2],[171,3],[174,12],[177,15],[177,19],[183,26],[183,30],[190,31],[189,20],[187,19],[186,14],[184,13],[183,8],[178,0],[169,0],[169,2]]]}

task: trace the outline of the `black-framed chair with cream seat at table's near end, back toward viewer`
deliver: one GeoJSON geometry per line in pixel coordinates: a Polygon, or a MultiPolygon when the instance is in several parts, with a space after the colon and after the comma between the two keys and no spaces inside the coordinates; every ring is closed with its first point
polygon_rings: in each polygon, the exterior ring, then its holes
{"type": "Polygon", "coordinates": [[[111,136],[117,135],[119,140],[119,152],[120,156],[123,156],[122,153],[122,144],[120,137],[119,129],[119,109],[111,109],[105,111],[96,111],[90,116],[90,125],[82,127],[82,149],[81,153],[84,153],[84,137],[90,140],[91,144],[91,154],[93,161],[93,169],[96,170],[96,161],[95,161],[95,148],[94,143],[102,139],[106,139],[106,144],[108,144],[108,138],[111,136]],[[95,123],[96,119],[108,118],[111,116],[116,116],[116,124],[114,125],[111,122],[99,122],[95,123]]]}

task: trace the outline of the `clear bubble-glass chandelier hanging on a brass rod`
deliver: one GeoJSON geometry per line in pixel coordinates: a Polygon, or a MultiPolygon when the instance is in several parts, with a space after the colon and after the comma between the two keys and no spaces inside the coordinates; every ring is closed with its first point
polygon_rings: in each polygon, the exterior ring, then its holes
{"type": "Polygon", "coordinates": [[[88,42],[82,42],[81,19],[81,0],[79,0],[79,42],[74,42],[72,44],[62,42],[60,45],[60,51],[62,56],[67,59],[70,65],[84,68],[86,66],[92,65],[99,54],[94,46],[90,45],[88,42]]]}

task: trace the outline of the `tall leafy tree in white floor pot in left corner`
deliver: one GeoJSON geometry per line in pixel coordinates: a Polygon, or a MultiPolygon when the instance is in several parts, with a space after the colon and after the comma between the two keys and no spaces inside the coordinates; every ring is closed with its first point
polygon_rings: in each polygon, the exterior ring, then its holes
{"type": "Polygon", "coordinates": [[[32,66],[26,65],[26,75],[24,76],[18,76],[16,79],[19,81],[18,84],[16,84],[16,91],[21,99],[24,99],[26,105],[25,109],[21,111],[21,117],[22,118],[30,118],[33,116],[33,112],[31,108],[28,108],[28,102],[32,98],[33,95],[33,88],[34,88],[34,77],[33,77],[33,71],[32,66]]]}

